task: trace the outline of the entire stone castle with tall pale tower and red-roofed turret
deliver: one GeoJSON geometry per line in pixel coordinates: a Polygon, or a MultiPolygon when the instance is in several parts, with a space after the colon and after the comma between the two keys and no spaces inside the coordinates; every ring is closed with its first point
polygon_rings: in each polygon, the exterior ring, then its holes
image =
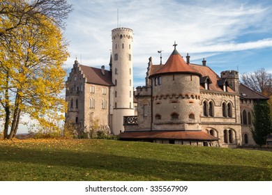
{"type": "Polygon", "coordinates": [[[252,107],[267,100],[243,84],[239,73],[220,77],[206,65],[190,63],[174,51],[163,65],[146,72],[146,85],[133,95],[133,30],[112,30],[109,70],[77,61],[66,81],[66,123],[82,130],[98,125],[121,140],[235,148],[255,145],[252,107]],[[136,109],[137,108],[137,109],[136,109]]]}

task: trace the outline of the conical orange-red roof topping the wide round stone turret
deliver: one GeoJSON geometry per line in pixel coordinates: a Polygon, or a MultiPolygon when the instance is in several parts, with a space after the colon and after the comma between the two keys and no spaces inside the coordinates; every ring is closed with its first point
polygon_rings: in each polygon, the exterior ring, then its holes
{"type": "Polygon", "coordinates": [[[163,67],[160,68],[160,70],[151,75],[151,77],[154,75],[167,73],[181,73],[181,74],[189,73],[200,75],[199,72],[195,72],[195,70],[190,68],[190,65],[188,65],[186,61],[183,60],[181,54],[179,54],[179,52],[176,50],[176,47],[174,48],[172,54],[169,56],[169,59],[167,59],[165,65],[163,65],[163,67]]]}

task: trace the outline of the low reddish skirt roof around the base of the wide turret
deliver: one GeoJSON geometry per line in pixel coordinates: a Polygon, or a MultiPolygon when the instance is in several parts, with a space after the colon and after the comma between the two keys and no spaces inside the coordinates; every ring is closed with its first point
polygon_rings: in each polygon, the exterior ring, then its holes
{"type": "Polygon", "coordinates": [[[120,139],[179,139],[186,141],[217,141],[217,137],[202,131],[135,131],[122,132],[119,134],[120,139]]]}

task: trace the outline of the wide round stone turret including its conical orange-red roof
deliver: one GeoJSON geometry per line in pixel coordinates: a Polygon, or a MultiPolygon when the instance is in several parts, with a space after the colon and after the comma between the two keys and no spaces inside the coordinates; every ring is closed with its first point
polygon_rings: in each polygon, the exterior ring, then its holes
{"type": "Polygon", "coordinates": [[[158,72],[150,76],[153,87],[153,130],[199,130],[199,78],[174,52],[158,72]]]}

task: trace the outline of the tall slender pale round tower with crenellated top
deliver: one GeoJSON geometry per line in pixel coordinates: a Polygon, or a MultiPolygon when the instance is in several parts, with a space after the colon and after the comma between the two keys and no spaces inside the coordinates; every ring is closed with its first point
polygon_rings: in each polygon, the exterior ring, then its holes
{"type": "Polygon", "coordinates": [[[133,116],[133,30],[112,30],[112,132],[123,132],[123,116],[133,116]]]}

